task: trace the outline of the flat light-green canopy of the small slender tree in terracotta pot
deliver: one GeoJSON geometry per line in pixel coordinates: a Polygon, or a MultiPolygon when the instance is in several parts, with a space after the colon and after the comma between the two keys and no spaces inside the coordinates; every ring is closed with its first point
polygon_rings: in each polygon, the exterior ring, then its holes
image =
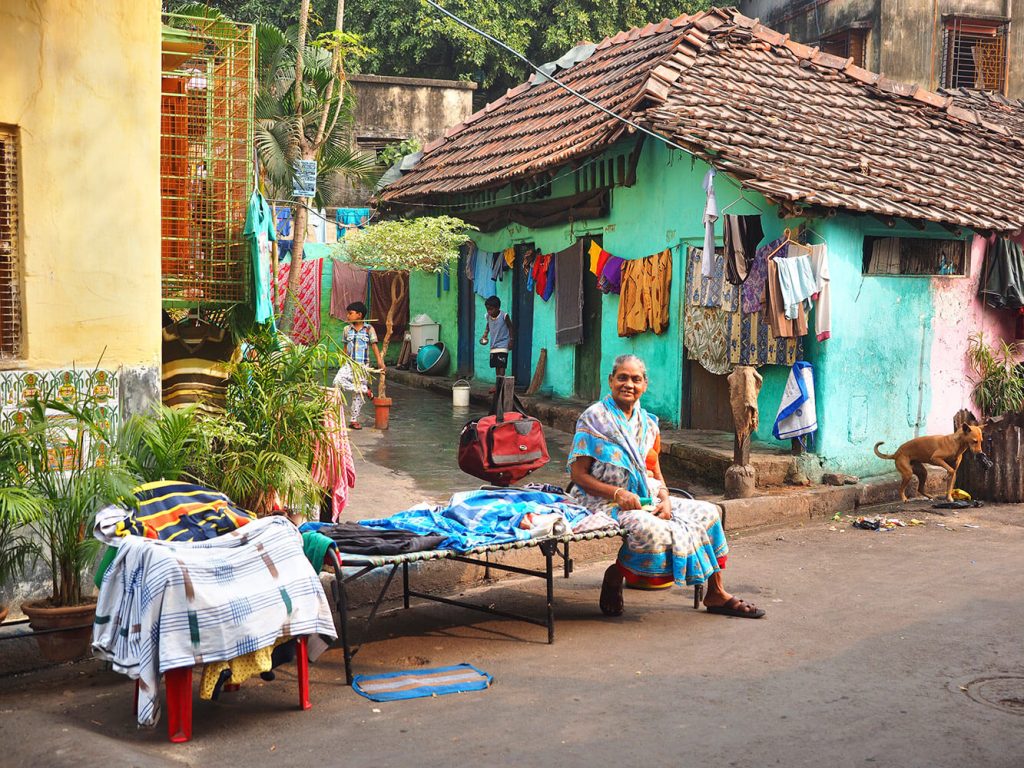
{"type": "Polygon", "coordinates": [[[335,254],[370,269],[439,272],[459,259],[469,229],[476,227],[453,216],[381,221],[349,231],[335,254]]]}

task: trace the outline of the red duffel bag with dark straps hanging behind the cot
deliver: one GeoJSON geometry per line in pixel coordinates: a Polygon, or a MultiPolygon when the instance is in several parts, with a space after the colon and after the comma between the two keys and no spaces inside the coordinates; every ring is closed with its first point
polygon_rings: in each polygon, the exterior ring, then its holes
{"type": "Polygon", "coordinates": [[[518,397],[510,410],[504,399],[496,392],[490,415],[468,422],[459,436],[459,468],[493,485],[518,482],[550,461],[541,422],[526,416],[518,397]]]}

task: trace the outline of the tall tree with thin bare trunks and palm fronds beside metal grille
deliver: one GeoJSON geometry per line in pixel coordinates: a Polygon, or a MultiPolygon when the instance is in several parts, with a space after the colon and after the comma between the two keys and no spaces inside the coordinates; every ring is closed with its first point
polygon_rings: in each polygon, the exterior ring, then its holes
{"type": "Polygon", "coordinates": [[[336,205],[346,180],[372,184],[383,168],[354,148],[354,98],[345,80],[346,61],[367,52],[355,35],[336,30],[306,42],[309,2],[302,0],[299,28],[293,35],[268,24],[256,25],[256,154],[262,178],[278,200],[290,198],[298,160],[316,161],[316,194],[299,197],[293,210],[292,269],[282,330],[291,329],[301,280],[302,250],[310,204],[336,205]]]}

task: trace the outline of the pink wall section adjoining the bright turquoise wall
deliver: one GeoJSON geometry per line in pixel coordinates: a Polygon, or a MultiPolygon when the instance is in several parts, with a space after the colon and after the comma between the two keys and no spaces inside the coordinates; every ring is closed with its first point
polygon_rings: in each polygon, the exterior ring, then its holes
{"type": "Polygon", "coordinates": [[[971,401],[968,338],[979,331],[992,343],[1013,341],[1016,316],[992,309],[978,300],[978,282],[985,256],[985,240],[975,237],[968,278],[932,279],[931,408],[927,434],[952,431],[953,414],[962,408],[977,413],[971,401]]]}

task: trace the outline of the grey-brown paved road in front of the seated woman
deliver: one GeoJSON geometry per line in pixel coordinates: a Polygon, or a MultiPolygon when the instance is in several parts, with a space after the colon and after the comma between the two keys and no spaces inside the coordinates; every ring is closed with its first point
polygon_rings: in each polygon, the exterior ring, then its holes
{"type": "MultiPolygon", "coordinates": [[[[1024,508],[978,512],[735,540],[729,583],[768,608],[760,622],[694,611],[679,591],[629,592],[626,614],[604,618],[599,565],[558,585],[553,646],[537,627],[396,610],[358,671],[469,662],[494,686],[374,703],[344,686],[332,651],[310,712],[295,710],[285,672],[197,701],[188,744],[136,730],[131,683],[95,665],[3,679],[0,764],[1019,768],[1024,508]]],[[[482,597],[540,607],[532,585],[482,597]]]]}

